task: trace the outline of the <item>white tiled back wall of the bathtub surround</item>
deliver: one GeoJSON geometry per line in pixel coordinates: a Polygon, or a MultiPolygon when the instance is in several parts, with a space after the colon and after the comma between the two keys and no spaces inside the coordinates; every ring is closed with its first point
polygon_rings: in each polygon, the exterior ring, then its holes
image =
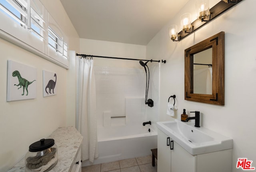
{"type": "Polygon", "coordinates": [[[95,66],[94,71],[98,127],[146,120],[142,69],[95,66]]]}

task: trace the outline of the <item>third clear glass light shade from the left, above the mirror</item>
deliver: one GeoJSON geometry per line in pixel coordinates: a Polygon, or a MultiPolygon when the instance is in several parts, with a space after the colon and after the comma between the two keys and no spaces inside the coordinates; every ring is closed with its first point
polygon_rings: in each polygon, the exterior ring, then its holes
{"type": "Polygon", "coordinates": [[[196,1],[196,15],[199,20],[205,19],[209,15],[209,0],[196,1]]]}

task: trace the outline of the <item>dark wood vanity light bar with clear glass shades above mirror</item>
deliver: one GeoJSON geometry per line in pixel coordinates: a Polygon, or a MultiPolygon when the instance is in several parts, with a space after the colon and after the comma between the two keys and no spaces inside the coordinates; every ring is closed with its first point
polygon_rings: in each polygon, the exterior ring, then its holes
{"type": "Polygon", "coordinates": [[[185,13],[180,17],[181,31],[175,34],[172,30],[172,26],[169,28],[169,36],[172,41],[180,41],[189,34],[195,32],[214,18],[217,18],[222,13],[226,12],[242,0],[220,0],[216,5],[209,9],[209,0],[197,0],[196,9],[197,17],[194,22],[191,22],[191,14],[185,13]],[[208,17],[207,17],[208,16],[208,17]],[[207,19],[206,19],[207,18],[207,19]],[[178,37],[178,40],[176,38],[178,37]]]}

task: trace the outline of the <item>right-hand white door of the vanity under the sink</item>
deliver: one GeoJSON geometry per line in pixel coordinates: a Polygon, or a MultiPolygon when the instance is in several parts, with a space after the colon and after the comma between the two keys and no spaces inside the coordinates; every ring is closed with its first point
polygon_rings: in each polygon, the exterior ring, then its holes
{"type": "Polygon", "coordinates": [[[196,156],[188,153],[175,141],[173,141],[171,160],[171,172],[196,172],[196,156]]]}

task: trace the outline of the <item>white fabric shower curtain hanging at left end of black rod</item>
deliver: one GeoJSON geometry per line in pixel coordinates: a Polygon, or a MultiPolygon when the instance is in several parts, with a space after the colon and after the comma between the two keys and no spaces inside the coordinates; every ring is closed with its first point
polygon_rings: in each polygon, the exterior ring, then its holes
{"type": "Polygon", "coordinates": [[[78,58],[77,61],[77,129],[84,137],[81,146],[82,160],[89,159],[93,162],[94,158],[98,158],[94,61],[86,58],[78,58]]]}

